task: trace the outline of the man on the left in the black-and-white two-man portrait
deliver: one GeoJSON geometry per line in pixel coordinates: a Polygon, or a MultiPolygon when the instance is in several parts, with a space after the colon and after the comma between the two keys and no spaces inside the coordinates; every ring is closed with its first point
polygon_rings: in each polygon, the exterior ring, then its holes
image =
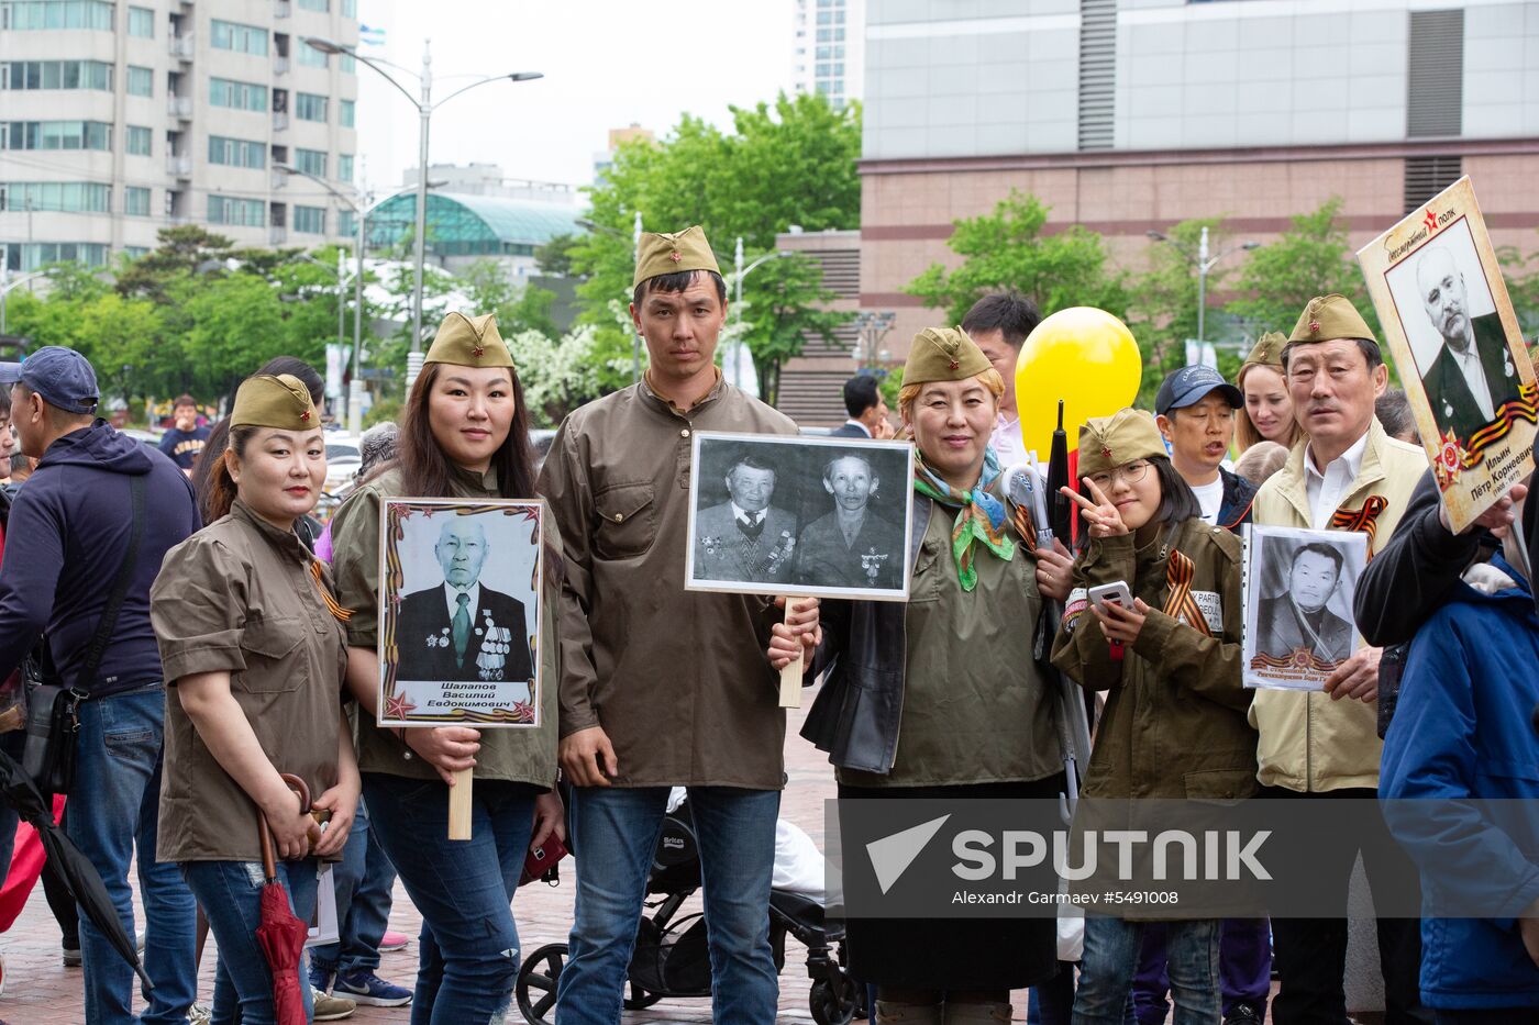
{"type": "Polygon", "coordinates": [[[696,512],[694,577],[783,583],[791,579],[796,516],[771,505],[774,466],[753,454],[726,469],[728,500],[696,512]]]}

